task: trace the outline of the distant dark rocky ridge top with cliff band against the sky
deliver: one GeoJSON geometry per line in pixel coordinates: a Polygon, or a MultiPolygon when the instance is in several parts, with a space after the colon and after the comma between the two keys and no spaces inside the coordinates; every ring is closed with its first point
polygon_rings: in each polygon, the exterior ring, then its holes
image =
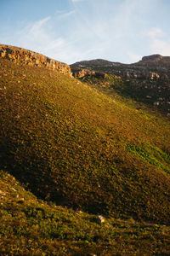
{"type": "Polygon", "coordinates": [[[170,78],[170,57],[161,55],[144,56],[141,61],[133,64],[105,61],[101,59],[80,61],[71,65],[73,68],[86,68],[121,76],[122,79],[159,79],[170,78]]]}

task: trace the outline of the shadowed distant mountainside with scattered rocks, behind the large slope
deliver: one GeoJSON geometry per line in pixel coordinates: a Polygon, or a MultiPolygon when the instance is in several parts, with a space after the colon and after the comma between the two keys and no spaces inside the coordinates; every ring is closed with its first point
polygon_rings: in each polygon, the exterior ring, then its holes
{"type": "Polygon", "coordinates": [[[133,64],[100,59],[80,61],[71,65],[71,71],[73,74],[77,73],[77,76],[81,70],[86,69],[91,73],[97,71],[119,77],[123,83],[118,84],[119,86],[117,83],[112,84],[117,93],[133,98],[137,102],[144,102],[170,116],[169,67],[170,57],[150,55],[133,64]]]}

